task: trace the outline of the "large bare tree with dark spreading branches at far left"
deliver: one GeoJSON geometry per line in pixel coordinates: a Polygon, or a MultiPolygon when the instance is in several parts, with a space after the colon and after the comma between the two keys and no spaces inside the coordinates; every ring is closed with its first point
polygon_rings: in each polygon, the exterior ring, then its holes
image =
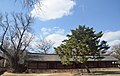
{"type": "Polygon", "coordinates": [[[17,72],[20,60],[33,39],[29,33],[33,19],[23,14],[0,15],[0,19],[0,50],[7,57],[10,68],[17,72]]]}

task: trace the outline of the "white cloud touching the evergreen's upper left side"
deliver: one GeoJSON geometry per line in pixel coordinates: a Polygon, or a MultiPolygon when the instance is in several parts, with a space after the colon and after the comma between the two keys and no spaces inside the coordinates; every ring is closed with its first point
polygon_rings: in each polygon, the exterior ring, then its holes
{"type": "Polygon", "coordinates": [[[61,34],[51,34],[46,37],[47,40],[51,40],[54,42],[54,47],[59,46],[64,39],[66,39],[66,36],[61,35],[61,34]]]}

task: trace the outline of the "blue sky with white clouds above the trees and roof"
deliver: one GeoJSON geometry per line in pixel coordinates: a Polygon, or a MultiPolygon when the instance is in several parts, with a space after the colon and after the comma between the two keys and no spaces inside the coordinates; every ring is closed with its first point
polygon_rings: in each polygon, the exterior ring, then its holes
{"type": "Polygon", "coordinates": [[[113,46],[120,43],[120,0],[41,0],[39,5],[26,11],[20,2],[0,0],[0,12],[23,12],[32,14],[32,26],[37,36],[50,39],[58,46],[71,29],[78,25],[93,27],[103,31],[103,40],[113,46]],[[35,12],[35,10],[37,12],[35,12]]]}

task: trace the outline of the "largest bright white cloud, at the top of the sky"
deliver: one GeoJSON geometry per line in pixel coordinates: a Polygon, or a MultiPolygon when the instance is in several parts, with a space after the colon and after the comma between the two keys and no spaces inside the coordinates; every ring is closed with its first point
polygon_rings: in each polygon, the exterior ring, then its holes
{"type": "Polygon", "coordinates": [[[34,5],[31,15],[43,21],[57,19],[71,15],[75,4],[73,0],[40,0],[40,4],[34,5]]]}

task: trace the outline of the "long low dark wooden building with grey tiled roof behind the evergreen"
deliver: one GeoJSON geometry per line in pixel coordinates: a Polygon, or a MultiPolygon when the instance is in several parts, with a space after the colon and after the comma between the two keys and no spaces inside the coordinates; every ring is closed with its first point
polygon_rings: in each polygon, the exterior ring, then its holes
{"type": "MultiPolygon", "coordinates": [[[[72,60],[71,60],[72,61],[72,60]]],[[[118,59],[112,56],[103,56],[101,59],[88,59],[87,66],[89,68],[111,68],[117,67],[118,59]]],[[[56,54],[28,54],[26,58],[28,69],[78,69],[84,68],[82,63],[72,65],[63,65],[56,54]]]]}

